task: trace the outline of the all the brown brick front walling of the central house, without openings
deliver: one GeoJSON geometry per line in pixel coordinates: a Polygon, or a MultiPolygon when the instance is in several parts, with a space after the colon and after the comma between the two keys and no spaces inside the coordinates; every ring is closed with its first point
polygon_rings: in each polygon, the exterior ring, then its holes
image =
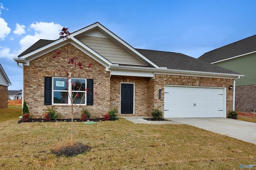
{"type": "MultiPolygon", "coordinates": [[[[67,46],[69,57],[78,57],[84,67],[79,75],[80,69],[71,67],[69,72],[72,72],[72,77],[94,79],[94,90],[97,92],[97,95],[94,95],[93,106],[81,106],[74,115],[75,118],[80,118],[82,108],[88,109],[92,118],[102,117],[114,107],[118,109],[120,114],[121,83],[134,83],[134,115],[150,115],[155,108],[164,112],[164,85],[224,87],[226,88],[227,114],[232,110],[233,91],[228,90],[228,88],[232,85],[233,79],[162,74],[155,74],[155,79],[151,79],[151,77],[110,76],[110,71],[106,71],[103,65],[71,44],[65,45],[57,51],[66,51],[67,46]],[[87,67],[89,63],[92,64],[91,67],[87,67]],[[100,83],[99,86],[98,83],[100,83]],[[162,90],[161,99],[158,97],[159,89],[162,90]]],[[[30,61],[29,66],[24,66],[24,101],[27,102],[31,118],[41,118],[47,109],[47,106],[44,105],[44,77],[61,77],[57,71],[59,69],[58,64],[66,65],[64,57],[57,56],[53,59],[52,56],[54,55],[56,53],[52,51],[30,61]]],[[[65,55],[65,52],[61,54],[61,56],[65,55]]],[[[60,113],[62,119],[70,119],[70,109],[66,105],[52,105],[52,107],[60,113]]]]}

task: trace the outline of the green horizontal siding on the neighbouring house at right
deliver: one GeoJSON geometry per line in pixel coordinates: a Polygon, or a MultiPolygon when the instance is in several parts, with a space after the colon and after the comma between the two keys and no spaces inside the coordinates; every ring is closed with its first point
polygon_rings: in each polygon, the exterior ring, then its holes
{"type": "Polygon", "coordinates": [[[256,85],[256,53],[214,64],[244,75],[236,80],[236,86],[256,85]]]}

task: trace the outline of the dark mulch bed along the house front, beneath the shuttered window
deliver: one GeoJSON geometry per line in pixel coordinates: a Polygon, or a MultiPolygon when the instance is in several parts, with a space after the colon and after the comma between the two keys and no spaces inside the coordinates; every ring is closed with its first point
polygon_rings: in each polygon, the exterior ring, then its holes
{"type": "MultiPolygon", "coordinates": [[[[83,122],[80,119],[73,119],[74,122],[83,122]]],[[[95,118],[95,119],[90,119],[90,121],[94,121],[94,122],[100,122],[100,121],[104,121],[103,118],[95,118]]],[[[110,121],[116,121],[113,119],[110,119],[110,121]]],[[[28,121],[26,122],[22,122],[22,120],[18,121],[19,123],[32,123],[32,122],[46,122],[45,119],[28,119],[28,121]]],[[[71,122],[71,119],[56,119],[56,120],[50,120],[48,122],[71,122]]]]}

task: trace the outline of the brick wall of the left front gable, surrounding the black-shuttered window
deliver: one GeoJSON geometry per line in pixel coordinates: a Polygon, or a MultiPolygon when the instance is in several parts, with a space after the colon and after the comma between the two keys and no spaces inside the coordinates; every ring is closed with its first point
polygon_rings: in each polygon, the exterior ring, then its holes
{"type": "MultiPolygon", "coordinates": [[[[57,51],[66,51],[67,45],[57,49],[57,51]]],[[[78,75],[80,69],[70,68],[69,72],[72,72],[74,78],[88,78],[94,79],[94,91],[97,95],[94,95],[93,106],[82,106],[74,114],[74,118],[80,118],[80,110],[82,108],[88,109],[92,114],[92,117],[102,117],[110,109],[110,71],[105,71],[106,68],[74,47],[68,44],[70,58],[78,57],[79,61],[83,63],[84,69],[81,72],[81,76],[78,75]],[[87,67],[91,63],[91,67],[87,67]],[[100,85],[98,85],[100,83],[100,85]]],[[[63,52],[61,55],[64,56],[63,52]]],[[[24,101],[27,102],[30,117],[41,118],[45,113],[47,106],[44,105],[44,77],[61,77],[57,71],[60,69],[58,63],[66,66],[67,61],[64,58],[52,56],[56,55],[54,51],[42,55],[32,61],[29,66],[24,66],[24,101]],[[57,63],[58,61],[58,63],[57,63]]],[[[66,105],[52,105],[58,113],[60,113],[62,119],[70,118],[70,109],[66,105]]]]}

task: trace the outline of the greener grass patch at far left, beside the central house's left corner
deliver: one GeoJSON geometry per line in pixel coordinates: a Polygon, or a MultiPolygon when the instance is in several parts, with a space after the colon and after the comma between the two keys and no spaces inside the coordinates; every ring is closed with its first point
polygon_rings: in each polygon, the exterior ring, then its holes
{"type": "Polygon", "coordinates": [[[22,106],[8,106],[7,109],[0,109],[0,122],[17,119],[21,116],[22,106]]]}

